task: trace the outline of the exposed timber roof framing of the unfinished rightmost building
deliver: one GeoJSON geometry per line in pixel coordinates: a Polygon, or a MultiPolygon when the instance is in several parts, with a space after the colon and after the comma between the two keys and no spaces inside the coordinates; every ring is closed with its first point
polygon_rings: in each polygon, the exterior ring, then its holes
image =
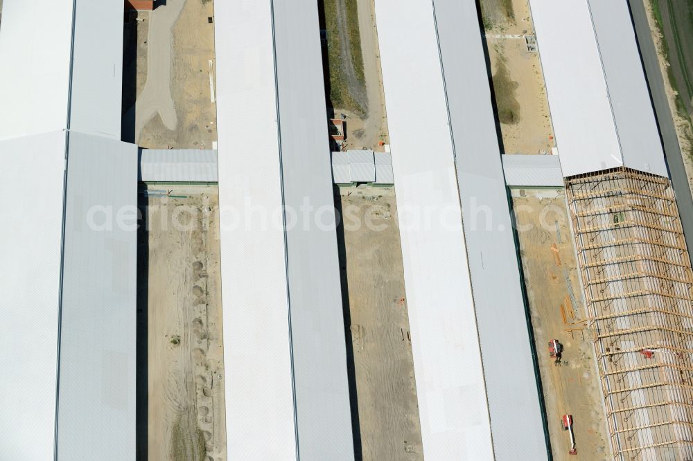
{"type": "Polygon", "coordinates": [[[693,460],[693,271],[669,179],[565,180],[616,460],[693,460]]]}

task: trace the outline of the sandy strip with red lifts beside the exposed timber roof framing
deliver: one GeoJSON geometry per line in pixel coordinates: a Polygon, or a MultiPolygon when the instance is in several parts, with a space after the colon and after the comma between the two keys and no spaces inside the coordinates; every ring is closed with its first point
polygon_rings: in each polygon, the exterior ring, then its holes
{"type": "Polygon", "coordinates": [[[581,329],[586,311],[565,192],[527,189],[525,195],[512,191],[554,460],[611,459],[594,349],[581,329]],[[565,347],[561,365],[549,355],[552,339],[565,347]],[[566,414],[573,417],[577,456],[568,455],[570,437],[561,427],[566,414]]]}

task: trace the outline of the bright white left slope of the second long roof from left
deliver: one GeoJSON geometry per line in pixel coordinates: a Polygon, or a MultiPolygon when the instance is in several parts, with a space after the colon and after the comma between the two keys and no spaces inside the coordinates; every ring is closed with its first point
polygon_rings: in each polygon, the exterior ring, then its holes
{"type": "Polygon", "coordinates": [[[270,6],[214,11],[229,461],[297,459],[270,6]]]}

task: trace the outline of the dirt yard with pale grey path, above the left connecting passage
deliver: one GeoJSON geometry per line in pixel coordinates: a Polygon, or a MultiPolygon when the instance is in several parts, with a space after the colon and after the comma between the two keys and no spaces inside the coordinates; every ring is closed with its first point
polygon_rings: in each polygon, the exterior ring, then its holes
{"type": "Polygon", "coordinates": [[[214,25],[208,19],[213,1],[168,0],[139,16],[144,21],[134,57],[137,101],[125,106],[130,108],[124,125],[133,126],[132,137],[141,147],[211,149],[216,141],[214,25]]]}

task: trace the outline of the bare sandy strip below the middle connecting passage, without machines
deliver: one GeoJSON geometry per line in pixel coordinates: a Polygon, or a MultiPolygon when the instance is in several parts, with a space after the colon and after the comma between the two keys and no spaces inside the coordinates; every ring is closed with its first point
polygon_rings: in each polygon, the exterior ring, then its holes
{"type": "Polygon", "coordinates": [[[394,190],[341,188],[340,199],[362,459],[423,460],[394,190]]]}

